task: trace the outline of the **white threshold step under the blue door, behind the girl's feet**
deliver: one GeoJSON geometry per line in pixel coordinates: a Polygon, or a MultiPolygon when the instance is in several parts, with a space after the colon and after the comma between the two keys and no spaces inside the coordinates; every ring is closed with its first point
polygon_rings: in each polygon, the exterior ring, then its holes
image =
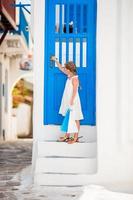
{"type": "MultiPolygon", "coordinates": [[[[39,132],[38,140],[57,140],[63,133],[60,131],[60,126],[46,125],[39,132]]],[[[79,136],[83,136],[86,142],[94,142],[97,139],[96,126],[81,126],[79,136]]]]}

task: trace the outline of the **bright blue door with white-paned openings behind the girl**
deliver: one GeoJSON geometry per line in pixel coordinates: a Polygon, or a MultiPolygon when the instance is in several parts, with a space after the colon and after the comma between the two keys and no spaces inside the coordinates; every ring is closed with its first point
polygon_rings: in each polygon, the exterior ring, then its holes
{"type": "Polygon", "coordinates": [[[45,10],[44,124],[60,124],[58,114],[66,76],[60,63],[73,61],[80,80],[84,120],[96,124],[96,0],[47,0],[45,10]]]}

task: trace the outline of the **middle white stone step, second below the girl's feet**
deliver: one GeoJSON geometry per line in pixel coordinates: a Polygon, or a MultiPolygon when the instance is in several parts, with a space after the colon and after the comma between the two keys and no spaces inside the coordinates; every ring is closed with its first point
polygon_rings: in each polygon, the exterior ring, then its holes
{"type": "Polygon", "coordinates": [[[96,158],[38,158],[35,173],[94,174],[96,158]]]}

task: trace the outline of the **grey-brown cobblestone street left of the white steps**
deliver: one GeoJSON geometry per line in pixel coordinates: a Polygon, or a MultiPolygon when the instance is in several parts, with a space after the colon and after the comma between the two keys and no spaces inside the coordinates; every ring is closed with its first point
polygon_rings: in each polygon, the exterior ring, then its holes
{"type": "Polygon", "coordinates": [[[21,180],[15,175],[31,165],[32,141],[0,143],[0,198],[18,199],[14,191],[21,180]]]}

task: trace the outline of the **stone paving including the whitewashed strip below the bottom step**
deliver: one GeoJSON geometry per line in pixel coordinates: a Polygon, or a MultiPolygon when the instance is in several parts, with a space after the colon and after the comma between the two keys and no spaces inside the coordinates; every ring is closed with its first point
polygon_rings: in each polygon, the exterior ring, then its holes
{"type": "Polygon", "coordinates": [[[79,199],[82,193],[81,187],[38,187],[33,185],[31,158],[31,139],[0,143],[0,199],[79,199]]]}

